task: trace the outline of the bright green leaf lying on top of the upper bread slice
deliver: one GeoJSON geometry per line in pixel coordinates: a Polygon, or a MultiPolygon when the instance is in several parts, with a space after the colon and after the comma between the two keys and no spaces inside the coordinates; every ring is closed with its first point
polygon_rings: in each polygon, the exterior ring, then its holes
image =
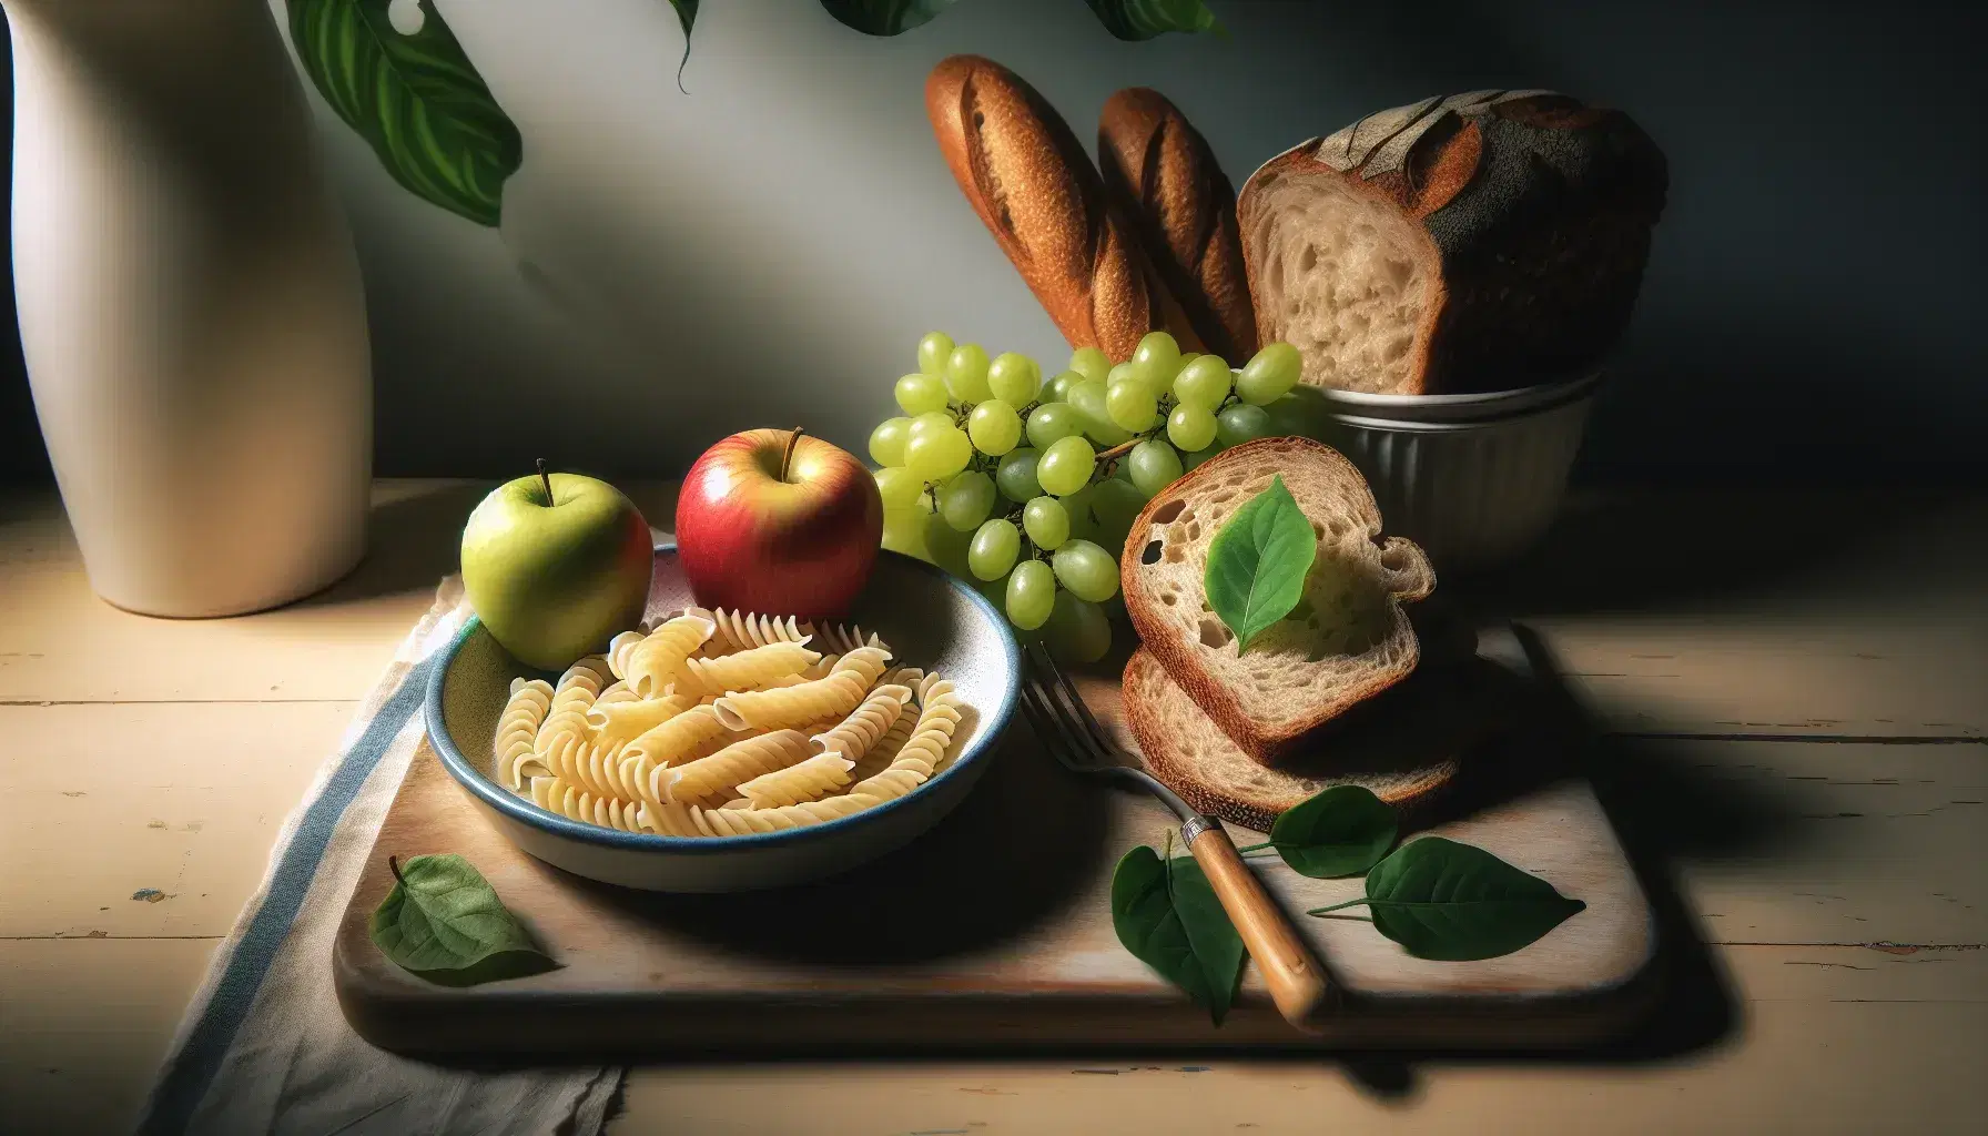
{"type": "Polygon", "coordinates": [[[1250,497],[1209,545],[1203,587],[1209,607],[1237,637],[1237,653],[1262,629],[1290,615],[1304,597],[1304,575],[1318,557],[1318,537],[1284,477],[1250,497]]]}

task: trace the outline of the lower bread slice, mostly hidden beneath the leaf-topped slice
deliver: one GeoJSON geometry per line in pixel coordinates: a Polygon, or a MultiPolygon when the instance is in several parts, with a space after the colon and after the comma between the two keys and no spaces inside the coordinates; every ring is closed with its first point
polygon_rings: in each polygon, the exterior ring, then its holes
{"type": "Polygon", "coordinates": [[[1155,778],[1197,812],[1256,832],[1268,832],[1284,810],[1328,786],[1366,786],[1392,806],[1421,806],[1459,768],[1461,746],[1390,742],[1324,744],[1290,768],[1266,768],[1229,740],[1145,649],[1125,663],[1123,716],[1155,778]]]}

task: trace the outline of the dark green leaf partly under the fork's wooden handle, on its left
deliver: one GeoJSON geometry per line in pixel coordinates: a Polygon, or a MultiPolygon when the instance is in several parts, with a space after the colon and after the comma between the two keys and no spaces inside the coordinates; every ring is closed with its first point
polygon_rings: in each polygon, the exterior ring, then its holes
{"type": "Polygon", "coordinates": [[[1242,939],[1193,859],[1189,873],[1141,844],[1111,873],[1111,927],[1119,943],[1221,1025],[1242,971],[1242,939]]]}

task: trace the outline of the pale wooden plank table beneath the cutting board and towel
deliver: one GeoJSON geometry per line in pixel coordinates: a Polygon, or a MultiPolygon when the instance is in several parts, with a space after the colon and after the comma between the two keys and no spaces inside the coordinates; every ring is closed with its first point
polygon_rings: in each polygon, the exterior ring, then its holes
{"type": "MultiPolygon", "coordinates": [[[[453,569],[483,485],[382,481],[296,607],[93,599],[54,491],[0,497],[0,1116],[125,1130],[284,814],[453,569]]],[[[634,493],[656,519],[670,487],[634,493]]],[[[1976,1132],[1988,1114],[1988,493],[1576,499],[1523,617],[1708,943],[1584,1058],[640,1068],[610,1132],[1976,1132]]]]}

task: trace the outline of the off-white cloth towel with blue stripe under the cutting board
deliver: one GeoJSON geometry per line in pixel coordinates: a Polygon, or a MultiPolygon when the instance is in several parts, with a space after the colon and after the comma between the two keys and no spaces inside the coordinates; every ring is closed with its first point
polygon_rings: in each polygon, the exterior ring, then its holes
{"type": "Polygon", "coordinates": [[[435,653],[467,619],[461,581],[449,577],[284,822],[262,887],[187,1007],[143,1136],[600,1130],[620,1068],[467,1072],[408,1060],[360,1041],[332,991],[332,937],[421,744],[435,653]]]}

